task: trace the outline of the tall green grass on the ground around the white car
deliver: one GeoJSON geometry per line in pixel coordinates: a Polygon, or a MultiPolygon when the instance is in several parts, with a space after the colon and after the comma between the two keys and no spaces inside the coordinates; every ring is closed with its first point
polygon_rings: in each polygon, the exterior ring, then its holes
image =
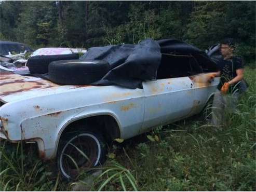
{"type": "MultiPolygon", "coordinates": [[[[246,68],[249,90],[222,129],[193,117],[115,144],[110,153],[116,157],[98,168],[102,174],[91,189],[256,190],[255,72],[246,68]]],[[[35,154],[22,152],[20,144],[1,142],[0,190],[71,190],[72,183],[53,176],[35,154]]]]}

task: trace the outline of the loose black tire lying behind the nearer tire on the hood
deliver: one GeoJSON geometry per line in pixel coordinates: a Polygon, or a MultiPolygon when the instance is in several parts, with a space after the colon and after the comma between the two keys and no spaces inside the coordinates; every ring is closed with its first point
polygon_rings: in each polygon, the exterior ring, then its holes
{"type": "Polygon", "coordinates": [[[48,65],[52,61],[79,59],[78,54],[55,54],[52,56],[34,56],[26,63],[30,73],[48,73],[48,65]]]}

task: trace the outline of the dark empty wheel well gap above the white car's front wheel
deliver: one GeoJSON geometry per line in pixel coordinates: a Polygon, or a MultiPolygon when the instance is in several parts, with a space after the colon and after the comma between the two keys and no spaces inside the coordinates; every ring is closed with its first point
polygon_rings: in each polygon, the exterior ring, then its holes
{"type": "Polygon", "coordinates": [[[114,117],[110,115],[99,115],[79,119],[68,125],[61,133],[61,138],[66,132],[90,130],[100,132],[107,143],[120,137],[119,126],[114,117]]]}

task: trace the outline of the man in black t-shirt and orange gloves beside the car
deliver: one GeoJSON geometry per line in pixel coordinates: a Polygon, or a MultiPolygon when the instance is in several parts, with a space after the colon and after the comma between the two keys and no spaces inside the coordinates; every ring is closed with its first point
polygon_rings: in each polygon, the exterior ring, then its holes
{"type": "Polygon", "coordinates": [[[238,88],[240,87],[240,91],[246,89],[239,85],[244,78],[244,66],[241,58],[233,56],[234,49],[232,38],[226,38],[220,44],[223,59],[218,63],[220,72],[217,76],[221,78],[212,103],[211,124],[214,126],[222,125],[226,106],[235,109],[239,97],[238,88]]]}

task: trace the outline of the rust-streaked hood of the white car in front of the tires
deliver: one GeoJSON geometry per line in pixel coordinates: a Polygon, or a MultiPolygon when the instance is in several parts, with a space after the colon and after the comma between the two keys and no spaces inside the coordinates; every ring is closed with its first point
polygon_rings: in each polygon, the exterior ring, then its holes
{"type": "Polygon", "coordinates": [[[95,86],[61,86],[46,79],[1,71],[0,100],[3,103],[8,103],[47,94],[74,91],[78,88],[89,89],[93,87],[95,86]]]}

